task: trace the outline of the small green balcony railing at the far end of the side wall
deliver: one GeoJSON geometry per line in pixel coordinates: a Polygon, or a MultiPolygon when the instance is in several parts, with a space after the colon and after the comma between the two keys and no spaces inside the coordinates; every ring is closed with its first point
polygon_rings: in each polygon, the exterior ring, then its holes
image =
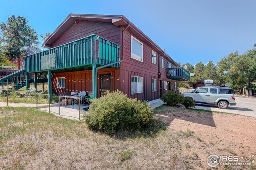
{"type": "Polygon", "coordinates": [[[190,73],[183,67],[167,68],[167,78],[178,81],[189,81],[190,73]]]}

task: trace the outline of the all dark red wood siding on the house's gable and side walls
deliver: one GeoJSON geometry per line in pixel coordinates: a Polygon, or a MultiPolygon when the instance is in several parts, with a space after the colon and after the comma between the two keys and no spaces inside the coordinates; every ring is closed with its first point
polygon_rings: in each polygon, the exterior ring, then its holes
{"type": "MultiPolygon", "coordinates": [[[[122,27],[122,29],[124,29],[122,27]]],[[[121,27],[108,22],[98,21],[79,21],[78,24],[72,25],[58,40],[54,42],[52,47],[56,47],[70,41],[86,37],[91,34],[99,35],[114,43],[121,45],[122,31],[121,27]]],[[[152,50],[149,45],[143,43],[143,63],[131,58],[131,33],[124,31],[123,35],[123,56],[124,60],[121,62],[120,68],[104,68],[100,69],[98,73],[98,97],[99,97],[99,74],[111,73],[112,90],[121,90],[131,98],[138,100],[155,100],[160,97],[160,81],[162,80],[162,94],[167,91],[164,90],[164,80],[172,84],[171,89],[174,88],[175,80],[166,79],[167,61],[174,65],[167,57],[164,57],[164,68],[160,67],[161,78],[158,79],[158,53],[156,53],[156,64],[152,63],[152,50]],[[131,76],[143,77],[143,93],[131,94],[131,76]],[[152,78],[156,79],[156,92],[152,92],[152,78]]],[[[156,51],[156,50],[154,50],[156,51]]],[[[56,73],[52,79],[53,92],[57,94],[70,94],[72,91],[92,91],[92,70],[84,70],[79,72],[64,72],[56,73]],[[57,88],[57,77],[66,78],[66,88],[57,88]]],[[[178,86],[178,84],[177,84],[178,86]]]]}

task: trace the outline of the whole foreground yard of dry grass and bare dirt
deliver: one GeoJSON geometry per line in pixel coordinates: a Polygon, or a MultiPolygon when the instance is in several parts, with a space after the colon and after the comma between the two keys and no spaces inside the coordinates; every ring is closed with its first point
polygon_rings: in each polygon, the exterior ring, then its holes
{"type": "MultiPolygon", "coordinates": [[[[33,108],[0,107],[0,169],[205,170],[210,154],[256,152],[256,118],[166,106],[154,112],[164,123],[109,136],[33,108]]],[[[253,169],[218,166],[225,168],[253,169]]]]}

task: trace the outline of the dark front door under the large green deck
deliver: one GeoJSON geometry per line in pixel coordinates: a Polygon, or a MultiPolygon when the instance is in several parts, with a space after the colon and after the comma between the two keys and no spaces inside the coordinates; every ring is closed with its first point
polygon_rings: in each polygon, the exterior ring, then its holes
{"type": "Polygon", "coordinates": [[[100,74],[100,96],[111,91],[111,74],[100,74]]]}

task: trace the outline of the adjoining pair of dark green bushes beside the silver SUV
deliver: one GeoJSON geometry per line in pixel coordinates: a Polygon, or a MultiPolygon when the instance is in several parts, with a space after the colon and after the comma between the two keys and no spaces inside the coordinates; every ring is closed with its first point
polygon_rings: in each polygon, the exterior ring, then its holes
{"type": "Polygon", "coordinates": [[[177,106],[179,104],[184,105],[186,108],[194,107],[194,100],[192,98],[185,98],[180,95],[178,92],[169,91],[166,94],[162,95],[161,100],[167,106],[177,106]]]}

